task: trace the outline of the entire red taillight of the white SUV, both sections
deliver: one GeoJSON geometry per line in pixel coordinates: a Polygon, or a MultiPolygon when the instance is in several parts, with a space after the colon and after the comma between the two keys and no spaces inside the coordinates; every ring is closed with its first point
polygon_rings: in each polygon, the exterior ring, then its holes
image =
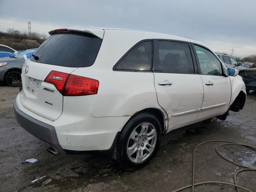
{"type": "Polygon", "coordinates": [[[44,81],[54,84],[64,96],[97,94],[99,87],[98,80],[57,71],[51,71],[44,81]]]}

